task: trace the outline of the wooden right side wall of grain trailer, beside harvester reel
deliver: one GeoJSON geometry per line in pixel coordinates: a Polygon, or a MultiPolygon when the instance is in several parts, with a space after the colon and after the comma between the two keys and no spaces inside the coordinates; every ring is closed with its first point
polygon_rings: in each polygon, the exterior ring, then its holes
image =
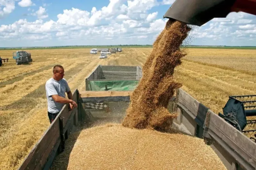
{"type": "Polygon", "coordinates": [[[174,127],[203,137],[228,170],[256,169],[256,143],[182,89],[177,91],[174,110],[178,112],[174,127]]]}

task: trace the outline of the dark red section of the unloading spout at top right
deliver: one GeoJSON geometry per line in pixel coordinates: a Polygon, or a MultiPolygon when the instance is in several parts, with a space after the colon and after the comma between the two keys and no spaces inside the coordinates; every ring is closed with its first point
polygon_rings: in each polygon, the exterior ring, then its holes
{"type": "Polygon", "coordinates": [[[256,0],[236,0],[235,4],[231,7],[231,11],[242,11],[256,15],[256,0]]]}

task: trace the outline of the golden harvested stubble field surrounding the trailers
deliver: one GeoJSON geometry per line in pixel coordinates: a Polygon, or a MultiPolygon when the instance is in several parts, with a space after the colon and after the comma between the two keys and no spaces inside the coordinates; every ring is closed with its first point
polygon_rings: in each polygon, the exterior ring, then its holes
{"type": "MultiPolygon", "coordinates": [[[[55,64],[64,66],[72,92],[84,90],[85,77],[98,64],[141,66],[152,48],[123,50],[107,59],[91,55],[89,49],[30,50],[33,62],[18,66],[13,51],[0,51],[2,58],[9,58],[0,67],[0,169],[17,169],[50,125],[44,84],[55,64]]],[[[229,95],[256,94],[255,58],[256,50],[188,49],[174,76],[182,89],[218,113],[229,95]],[[240,63],[244,66],[238,67],[240,63]]]]}

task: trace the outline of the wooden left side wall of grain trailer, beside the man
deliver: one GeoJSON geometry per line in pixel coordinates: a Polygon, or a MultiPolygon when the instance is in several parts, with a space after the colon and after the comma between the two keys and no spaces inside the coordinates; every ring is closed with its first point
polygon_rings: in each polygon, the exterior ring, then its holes
{"type": "MultiPolygon", "coordinates": [[[[78,104],[78,107],[80,107],[80,103],[78,102],[79,92],[77,89],[73,93],[73,100],[78,104]]],[[[28,153],[18,169],[49,169],[56,154],[63,150],[68,133],[71,132],[73,125],[77,125],[79,116],[77,107],[69,110],[68,105],[65,105],[48,129],[44,132],[44,135],[28,153]]]]}

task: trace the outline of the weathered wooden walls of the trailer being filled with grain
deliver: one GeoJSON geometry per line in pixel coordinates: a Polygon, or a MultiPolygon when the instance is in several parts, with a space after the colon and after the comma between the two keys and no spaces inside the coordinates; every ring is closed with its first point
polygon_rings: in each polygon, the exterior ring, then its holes
{"type": "MultiPolygon", "coordinates": [[[[90,76],[97,75],[97,71],[101,70],[95,69],[90,76]]],[[[95,77],[95,79],[98,78],[95,77]]],[[[65,140],[70,133],[95,120],[104,121],[109,118],[110,121],[120,121],[125,116],[131,94],[132,91],[78,91],[76,89],[73,98],[78,103],[78,107],[69,110],[68,105],[65,105],[62,108],[19,169],[49,169],[54,158],[65,149],[65,140]],[[97,108],[93,106],[93,109],[105,111],[93,113],[92,110],[86,110],[86,103],[94,102],[112,102],[115,103],[116,108],[98,105],[97,108]]],[[[170,113],[173,111],[178,113],[178,117],[173,121],[173,128],[203,138],[205,144],[212,147],[228,170],[255,170],[256,143],[187,92],[178,89],[176,96],[169,101],[168,109],[170,113]]]]}

